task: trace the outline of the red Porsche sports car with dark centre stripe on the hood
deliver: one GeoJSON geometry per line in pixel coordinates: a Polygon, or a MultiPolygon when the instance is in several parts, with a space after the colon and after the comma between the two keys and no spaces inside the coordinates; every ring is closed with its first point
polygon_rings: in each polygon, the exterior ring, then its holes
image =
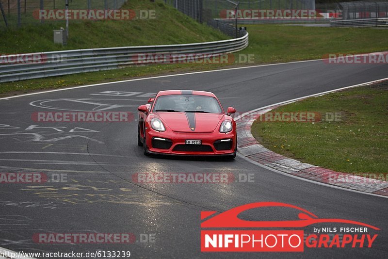
{"type": "Polygon", "coordinates": [[[138,145],[145,155],[236,157],[236,122],[210,92],[160,91],[139,110],[138,145]]]}

